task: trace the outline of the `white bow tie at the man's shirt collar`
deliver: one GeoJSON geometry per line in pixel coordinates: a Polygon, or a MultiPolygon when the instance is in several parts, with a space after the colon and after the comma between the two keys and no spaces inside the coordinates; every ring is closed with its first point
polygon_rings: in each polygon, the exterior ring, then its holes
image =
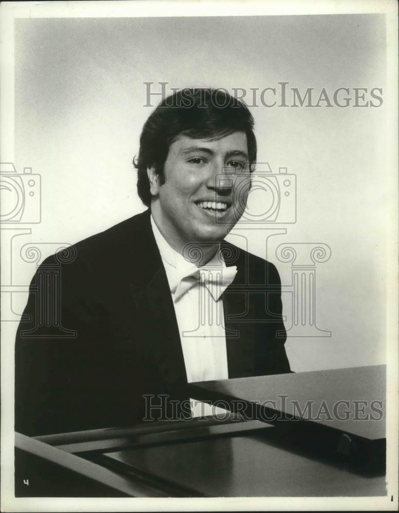
{"type": "Polygon", "coordinates": [[[201,282],[211,293],[213,299],[218,301],[222,293],[233,282],[237,274],[237,266],[204,266],[187,264],[176,268],[176,280],[170,288],[177,301],[196,283],[201,282]]]}

